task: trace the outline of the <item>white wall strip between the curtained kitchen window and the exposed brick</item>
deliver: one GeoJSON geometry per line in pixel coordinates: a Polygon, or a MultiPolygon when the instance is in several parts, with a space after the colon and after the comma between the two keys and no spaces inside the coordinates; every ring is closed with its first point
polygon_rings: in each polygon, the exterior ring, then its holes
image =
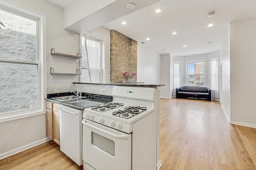
{"type": "Polygon", "coordinates": [[[86,33],[90,33],[104,39],[105,57],[103,59],[103,83],[110,83],[110,30],[104,27],[97,27],[90,31],[86,31],[86,33]]]}

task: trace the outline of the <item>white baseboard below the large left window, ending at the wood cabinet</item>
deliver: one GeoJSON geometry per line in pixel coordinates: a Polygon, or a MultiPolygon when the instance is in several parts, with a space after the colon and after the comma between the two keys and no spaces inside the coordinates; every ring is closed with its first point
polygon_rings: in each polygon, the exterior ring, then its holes
{"type": "Polygon", "coordinates": [[[20,152],[23,152],[24,150],[28,150],[28,149],[31,149],[33,147],[36,147],[38,145],[41,145],[43,143],[46,143],[48,141],[50,141],[51,139],[49,139],[48,137],[44,138],[44,139],[41,139],[39,141],[36,141],[36,142],[33,142],[33,143],[30,143],[28,145],[25,145],[25,146],[22,146],[22,147],[19,147],[19,148],[16,148],[16,149],[13,149],[13,150],[10,150],[8,152],[5,152],[5,153],[2,153],[0,154],[0,160],[4,159],[4,158],[7,158],[9,156],[12,156],[14,154],[17,154],[17,153],[20,153],[20,152]]]}

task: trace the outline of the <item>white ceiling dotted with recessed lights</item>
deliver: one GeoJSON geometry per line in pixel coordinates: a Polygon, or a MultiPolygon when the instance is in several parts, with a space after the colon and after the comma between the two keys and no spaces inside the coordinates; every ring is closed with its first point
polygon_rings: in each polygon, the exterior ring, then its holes
{"type": "MultiPolygon", "coordinates": [[[[48,1],[64,8],[73,0],[48,1]]],[[[156,53],[188,56],[220,50],[229,23],[252,17],[256,17],[256,0],[160,0],[102,26],[144,42],[156,53]],[[155,13],[158,8],[162,12],[155,13]],[[214,16],[207,17],[209,12],[214,16]],[[209,23],[214,25],[207,27],[209,23]]]]}

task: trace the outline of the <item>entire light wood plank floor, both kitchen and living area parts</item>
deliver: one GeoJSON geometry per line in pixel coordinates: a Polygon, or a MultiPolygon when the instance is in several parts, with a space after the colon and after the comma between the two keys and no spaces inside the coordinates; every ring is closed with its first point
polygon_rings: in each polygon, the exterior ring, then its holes
{"type": "MultiPolygon", "coordinates": [[[[217,101],[161,99],[160,170],[256,170],[256,129],[231,125],[217,101]]],[[[0,170],[82,170],[53,141],[0,160],[0,170]]]]}

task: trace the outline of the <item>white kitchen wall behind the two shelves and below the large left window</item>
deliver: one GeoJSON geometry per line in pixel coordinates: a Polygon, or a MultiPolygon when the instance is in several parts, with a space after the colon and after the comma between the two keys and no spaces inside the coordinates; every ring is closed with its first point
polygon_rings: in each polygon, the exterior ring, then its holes
{"type": "MultiPolygon", "coordinates": [[[[57,52],[74,54],[79,52],[79,35],[63,29],[63,9],[46,1],[36,0],[6,0],[9,4],[15,4],[27,11],[38,14],[46,14],[46,69],[47,69],[47,92],[51,92],[51,86],[62,86],[62,91],[67,91],[72,82],[78,81],[79,76],[54,75],[50,79],[50,67],[57,70],[75,67],[74,59],[65,57],[53,57],[51,48],[57,52]],[[57,63],[59,62],[59,63],[57,63]],[[72,62],[72,63],[71,63],[72,62]]],[[[68,90],[69,91],[69,90],[68,90]]],[[[0,123],[0,159],[29,149],[49,140],[46,137],[45,114],[0,123]]]]}

